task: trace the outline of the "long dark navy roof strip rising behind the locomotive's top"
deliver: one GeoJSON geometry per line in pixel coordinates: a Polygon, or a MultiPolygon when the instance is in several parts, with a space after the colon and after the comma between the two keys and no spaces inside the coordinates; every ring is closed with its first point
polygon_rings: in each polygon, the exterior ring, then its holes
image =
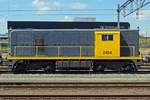
{"type": "MultiPolygon", "coordinates": [[[[8,29],[96,29],[114,28],[117,22],[55,22],[55,21],[8,21],[8,29]]],[[[120,23],[121,29],[129,29],[128,22],[120,23]]]]}

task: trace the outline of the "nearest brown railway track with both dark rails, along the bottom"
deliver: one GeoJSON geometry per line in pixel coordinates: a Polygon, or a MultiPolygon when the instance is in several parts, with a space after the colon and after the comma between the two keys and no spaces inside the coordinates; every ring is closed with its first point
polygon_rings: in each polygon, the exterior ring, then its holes
{"type": "Polygon", "coordinates": [[[149,83],[1,84],[1,100],[149,100],[149,83]]]}

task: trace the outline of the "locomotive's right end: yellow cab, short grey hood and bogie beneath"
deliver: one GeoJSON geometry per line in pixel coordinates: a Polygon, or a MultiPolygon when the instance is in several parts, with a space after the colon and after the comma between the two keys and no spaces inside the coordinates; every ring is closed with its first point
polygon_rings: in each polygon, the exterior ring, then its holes
{"type": "Polygon", "coordinates": [[[96,31],[94,70],[136,71],[141,64],[138,30],[96,31]]]}

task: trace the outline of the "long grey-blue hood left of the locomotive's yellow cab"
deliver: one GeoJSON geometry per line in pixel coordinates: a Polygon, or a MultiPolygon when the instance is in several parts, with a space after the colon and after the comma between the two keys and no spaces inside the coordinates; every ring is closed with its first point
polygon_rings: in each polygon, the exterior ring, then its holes
{"type": "MultiPolygon", "coordinates": [[[[11,55],[14,46],[39,46],[38,56],[94,56],[94,31],[33,31],[11,32],[11,55]],[[12,39],[13,38],[13,39],[12,39]],[[40,47],[45,46],[45,47],[40,47]],[[58,55],[59,46],[59,55],[58,55]],[[75,47],[73,47],[75,46],[75,47]],[[80,47],[82,54],[80,54],[80,47]],[[89,46],[89,47],[88,47],[89,46]]],[[[17,47],[16,56],[35,56],[35,48],[17,47]],[[31,49],[31,50],[30,50],[31,49]],[[33,51],[33,52],[32,52],[33,51]]]]}

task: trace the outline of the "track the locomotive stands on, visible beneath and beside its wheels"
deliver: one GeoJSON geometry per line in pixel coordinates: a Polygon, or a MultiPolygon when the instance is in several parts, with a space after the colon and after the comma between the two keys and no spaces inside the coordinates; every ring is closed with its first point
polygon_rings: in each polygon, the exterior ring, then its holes
{"type": "MultiPolygon", "coordinates": [[[[149,65],[150,66],[150,65],[149,65]]],[[[148,65],[142,66],[137,72],[119,72],[119,71],[112,71],[112,70],[106,70],[104,72],[98,72],[97,74],[150,74],[150,67],[148,65]]],[[[12,74],[11,68],[8,66],[1,66],[0,67],[0,74],[12,74]]],[[[46,74],[44,71],[28,71],[23,74],[46,74]]],[[[95,74],[91,70],[88,71],[56,71],[55,73],[51,74],[95,74]]],[[[49,73],[47,73],[49,74],[49,73]]]]}

